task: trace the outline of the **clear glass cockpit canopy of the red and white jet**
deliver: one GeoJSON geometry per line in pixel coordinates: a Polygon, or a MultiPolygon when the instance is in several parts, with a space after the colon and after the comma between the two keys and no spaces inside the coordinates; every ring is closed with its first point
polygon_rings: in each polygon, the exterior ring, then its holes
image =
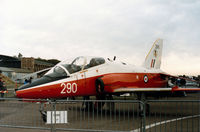
{"type": "Polygon", "coordinates": [[[70,74],[79,72],[84,69],[92,68],[105,63],[102,57],[77,57],[58,63],[45,76],[50,77],[67,77],[70,74]]]}

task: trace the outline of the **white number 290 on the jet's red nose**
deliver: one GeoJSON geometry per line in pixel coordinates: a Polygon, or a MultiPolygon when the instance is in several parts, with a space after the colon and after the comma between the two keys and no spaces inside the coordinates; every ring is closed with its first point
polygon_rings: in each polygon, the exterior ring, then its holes
{"type": "Polygon", "coordinates": [[[61,94],[66,93],[76,93],[77,92],[77,84],[76,83],[62,83],[61,84],[62,91],[61,94]]]}

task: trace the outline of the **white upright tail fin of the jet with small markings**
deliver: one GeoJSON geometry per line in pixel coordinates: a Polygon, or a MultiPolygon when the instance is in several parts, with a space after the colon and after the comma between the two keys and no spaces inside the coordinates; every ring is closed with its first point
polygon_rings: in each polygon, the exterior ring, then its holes
{"type": "Polygon", "coordinates": [[[157,39],[148,55],[146,56],[144,67],[145,68],[154,68],[160,69],[161,66],[161,56],[162,56],[163,40],[157,39]]]}

